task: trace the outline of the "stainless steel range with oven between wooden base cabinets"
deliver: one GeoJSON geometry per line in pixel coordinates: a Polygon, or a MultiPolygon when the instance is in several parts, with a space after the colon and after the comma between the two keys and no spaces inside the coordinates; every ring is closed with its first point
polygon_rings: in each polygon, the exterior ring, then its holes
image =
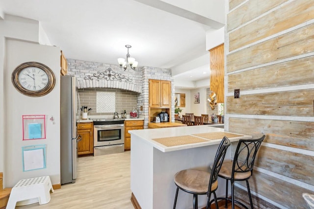
{"type": "Polygon", "coordinates": [[[124,119],[94,118],[94,156],[124,152],[124,119]]]}

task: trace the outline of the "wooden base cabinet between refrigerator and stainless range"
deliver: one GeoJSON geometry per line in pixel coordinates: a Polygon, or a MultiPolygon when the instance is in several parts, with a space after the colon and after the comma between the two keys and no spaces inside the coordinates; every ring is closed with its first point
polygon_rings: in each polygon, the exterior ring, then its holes
{"type": "Polygon", "coordinates": [[[93,123],[78,123],[78,135],[81,140],[78,141],[78,156],[94,154],[94,129],[93,123]]]}

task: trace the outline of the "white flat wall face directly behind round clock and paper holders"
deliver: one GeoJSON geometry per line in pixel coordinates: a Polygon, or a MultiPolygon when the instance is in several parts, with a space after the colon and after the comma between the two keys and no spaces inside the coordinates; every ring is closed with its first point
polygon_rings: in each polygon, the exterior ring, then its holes
{"type": "Polygon", "coordinates": [[[52,184],[60,184],[60,48],[42,46],[23,41],[6,41],[7,68],[5,80],[6,106],[6,153],[5,186],[13,187],[19,180],[49,175],[52,184]],[[11,82],[13,70],[28,61],[47,65],[55,74],[56,82],[51,93],[41,97],[30,97],[19,93],[11,82]],[[46,138],[22,140],[23,115],[46,116],[46,138]],[[55,123],[49,120],[54,117],[55,123]],[[21,147],[47,144],[47,168],[23,172],[21,147]]]}

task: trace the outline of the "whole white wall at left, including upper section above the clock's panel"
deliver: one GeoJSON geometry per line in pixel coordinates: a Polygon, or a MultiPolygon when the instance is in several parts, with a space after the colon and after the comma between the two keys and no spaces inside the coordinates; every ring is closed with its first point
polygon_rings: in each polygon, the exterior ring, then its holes
{"type": "Polygon", "coordinates": [[[19,180],[49,175],[60,184],[60,48],[41,46],[39,23],[15,16],[0,20],[0,172],[3,186],[19,180]],[[30,43],[31,42],[31,43],[30,43]],[[11,82],[12,71],[21,63],[36,61],[50,67],[56,84],[51,93],[29,97],[19,93],[11,82]],[[22,140],[22,116],[46,115],[47,139],[22,140]],[[53,116],[55,124],[49,118],[53,116]],[[23,172],[22,146],[47,144],[47,168],[23,172]]]}

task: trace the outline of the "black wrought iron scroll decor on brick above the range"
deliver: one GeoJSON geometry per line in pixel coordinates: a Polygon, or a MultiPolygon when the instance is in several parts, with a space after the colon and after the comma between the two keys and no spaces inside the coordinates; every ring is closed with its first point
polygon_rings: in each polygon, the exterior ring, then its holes
{"type": "Polygon", "coordinates": [[[121,75],[120,73],[114,72],[111,68],[106,69],[105,71],[101,72],[98,71],[97,73],[94,73],[93,75],[86,75],[84,77],[85,80],[93,80],[96,79],[99,81],[99,79],[105,79],[107,81],[126,81],[126,82],[132,82],[132,79],[129,77],[125,77],[124,75],[121,75]]]}

